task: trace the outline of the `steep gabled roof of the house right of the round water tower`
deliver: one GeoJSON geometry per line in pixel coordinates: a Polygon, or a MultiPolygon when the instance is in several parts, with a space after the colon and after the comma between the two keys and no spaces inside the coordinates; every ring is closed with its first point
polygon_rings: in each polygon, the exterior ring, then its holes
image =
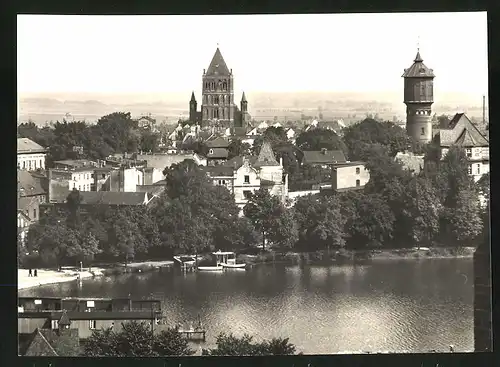
{"type": "Polygon", "coordinates": [[[488,146],[488,139],[477,129],[464,113],[457,113],[446,128],[439,129],[442,147],[461,145],[464,147],[488,146]]]}

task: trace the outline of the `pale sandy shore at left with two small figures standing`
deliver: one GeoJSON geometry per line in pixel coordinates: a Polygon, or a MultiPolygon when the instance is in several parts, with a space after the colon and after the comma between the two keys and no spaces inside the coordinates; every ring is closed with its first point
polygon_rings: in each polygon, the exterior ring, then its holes
{"type": "Polygon", "coordinates": [[[99,276],[119,275],[125,272],[147,272],[173,265],[173,261],[143,261],[128,264],[99,264],[80,271],[77,267],[63,267],[61,271],[54,269],[37,269],[37,276],[30,277],[28,269],[17,270],[17,289],[28,289],[48,284],[71,282],[78,279],[89,279],[99,276]]]}

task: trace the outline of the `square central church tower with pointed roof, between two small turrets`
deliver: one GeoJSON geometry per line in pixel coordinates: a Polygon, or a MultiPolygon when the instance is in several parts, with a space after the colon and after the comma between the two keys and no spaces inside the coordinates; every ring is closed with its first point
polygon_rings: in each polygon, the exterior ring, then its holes
{"type": "Polygon", "coordinates": [[[202,126],[233,127],[236,107],[233,72],[218,47],[208,69],[203,70],[202,80],[202,126]]]}

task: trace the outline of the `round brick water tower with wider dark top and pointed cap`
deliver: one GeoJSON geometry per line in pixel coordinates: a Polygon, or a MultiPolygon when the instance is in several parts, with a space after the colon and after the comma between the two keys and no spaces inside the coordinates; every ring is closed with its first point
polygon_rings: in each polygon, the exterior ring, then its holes
{"type": "Polygon", "coordinates": [[[429,143],[432,140],[432,104],[434,103],[434,72],[424,65],[417,51],[413,65],[405,69],[404,103],[406,131],[413,140],[429,143]]]}

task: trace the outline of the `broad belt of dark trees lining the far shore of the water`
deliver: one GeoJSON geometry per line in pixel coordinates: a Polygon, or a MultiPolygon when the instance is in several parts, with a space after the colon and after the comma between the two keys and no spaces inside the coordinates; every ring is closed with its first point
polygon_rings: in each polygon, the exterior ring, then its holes
{"type": "MultiPolygon", "coordinates": [[[[255,154],[267,139],[277,157],[288,162],[285,169],[303,177],[306,168],[298,164],[300,150],[282,130],[269,128],[252,148],[232,143],[234,154],[237,150],[255,154]]],[[[268,244],[316,251],[466,246],[483,238],[489,207],[481,209],[479,194],[489,195],[489,176],[474,183],[463,149],[450,149],[439,161],[439,147],[419,147],[428,163],[412,175],[394,160],[411,144],[404,130],[365,120],[344,133],[341,139],[331,131],[312,130],[297,138],[297,146],[340,149],[351,160],[365,161],[371,178],[362,190],[301,197],[293,206],[260,190],[250,196],[240,217],[232,194],[214,186],[193,161],[184,161],[165,169],[165,192],[148,207],[96,206],[83,212],[78,192],[71,193],[65,208],[30,228],[20,257],[30,253],[54,265],[214,249],[240,251],[268,244]]]]}

